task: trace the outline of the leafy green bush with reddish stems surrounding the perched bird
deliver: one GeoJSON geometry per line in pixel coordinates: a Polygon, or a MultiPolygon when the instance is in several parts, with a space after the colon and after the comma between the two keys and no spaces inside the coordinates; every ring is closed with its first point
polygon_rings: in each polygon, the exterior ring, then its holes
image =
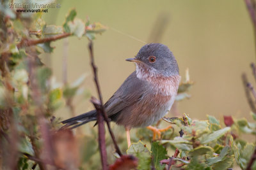
{"type": "MultiPolygon", "coordinates": [[[[81,76],[72,84],[58,83],[51,68],[40,60],[41,53],[54,50],[52,41],[68,36],[86,37],[89,41],[107,27],[99,22],[76,18],[68,12],[63,25],[47,25],[42,13],[16,13],[8,1],[0,6],[0,134],[2,169],[101,169],[98,134],[74,135],[61,127],[56,110],[84,95],[81,76]]],[[[175,102],[186,99],[193,85],[187,71],[180,83],[175,102]]],[[[117,138],[123,153],[115,153],[111,139],[106,138],[110,169],[246,169],[255,149],[241,134],[256,134],[256,115],[246,119],[224,117],[224,124],[208,115],[207,120],[193,120],[188,114],[163,118],[155,127],[172,125],[161,136],[148,129],[136,130],[132,145],[126,150],[124,136],[117,138]],[[154,137],[154,140],[153,140],[154,137]],[[156,137],[158,137],[156,139],[156,137]],[[133,155],[134,157],[129,157],[133,155]],[[128,159],[125,159],[127,156],[128,159]],[[130,161],[130,162],[129,162],[130,161]]],[[[115,127],[113,129],[115,131],[115,127]]],[[[252,165],[256,169],[256,165],[252,165]]]]}

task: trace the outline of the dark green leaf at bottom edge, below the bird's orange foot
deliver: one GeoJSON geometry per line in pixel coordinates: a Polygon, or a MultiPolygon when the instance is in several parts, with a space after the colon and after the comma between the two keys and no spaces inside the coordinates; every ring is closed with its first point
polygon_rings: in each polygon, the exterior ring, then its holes
{"type": "Polygon", "coordinates": [[[163,145],[160,145],[159,142],[154,142],[151,145],[151,155],[153,157],[153,164],[156,169],[164,169],[164,165],[160,164],[160,160],[167,159],[167,151],[163,145]]]}

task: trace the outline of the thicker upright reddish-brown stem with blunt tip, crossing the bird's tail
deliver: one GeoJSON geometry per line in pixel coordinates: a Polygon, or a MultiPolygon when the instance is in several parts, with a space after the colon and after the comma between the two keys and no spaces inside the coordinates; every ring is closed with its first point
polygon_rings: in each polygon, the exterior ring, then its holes
{"type": "Polygon", "coordinates": [[[101,103],[95,97],[92,97],[91,102],[93,103],[95,109],[97,110],[97,121],[99,128],[99,148],[100,148],[100,157],[102,169],[108,169],[108,157],[106,150],[106,141],[105,141],[105,129],[104,129],[104,117],[102,115],[101,103]]]}

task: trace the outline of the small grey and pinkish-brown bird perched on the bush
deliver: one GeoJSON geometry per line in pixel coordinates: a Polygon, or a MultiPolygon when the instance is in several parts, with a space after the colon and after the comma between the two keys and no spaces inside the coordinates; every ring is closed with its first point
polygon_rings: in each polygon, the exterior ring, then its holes
{"type": "MultiPolygon", "coordinates": [[[[109,120],[124,125],[130,146],[131,128],[152,125],[170,111],[180,76],[173,53],[160,43],[144,45],[134,58],[126,60],[135,63],[136,71],[128,76],[104,108],[109,120]]],[[[97,120],[96,110],[61,123],[73,129],[93,120],[97,120]]]]}

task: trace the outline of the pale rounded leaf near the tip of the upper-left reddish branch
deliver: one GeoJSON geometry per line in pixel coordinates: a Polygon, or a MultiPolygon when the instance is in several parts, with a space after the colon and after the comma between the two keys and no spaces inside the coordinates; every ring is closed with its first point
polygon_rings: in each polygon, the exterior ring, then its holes
{"type": "Polygon", "coordinates": [[[80,19],[74,19],[73,21],[68,22],[68,27],[70,32],[78,38],[81,38],[85,32],[85,24],[80,19]]]}

